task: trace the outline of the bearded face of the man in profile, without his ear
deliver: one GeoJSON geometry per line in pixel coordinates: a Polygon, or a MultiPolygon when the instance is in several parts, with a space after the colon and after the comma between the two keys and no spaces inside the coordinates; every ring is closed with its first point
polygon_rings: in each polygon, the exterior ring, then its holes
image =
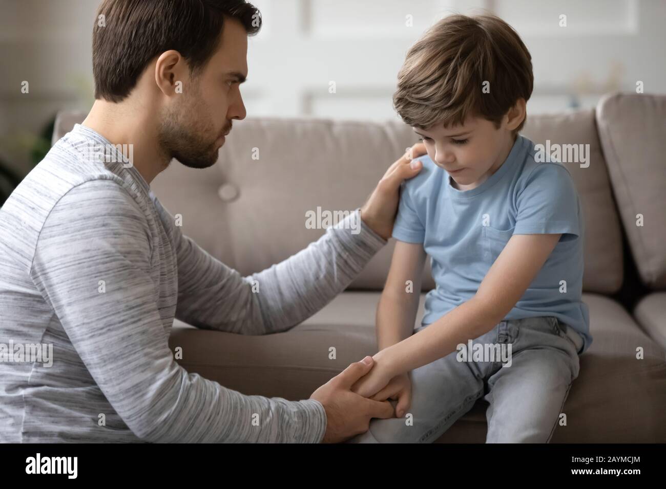
{"type": "Polygon", "coordinates": [[[217,161],[233,119],[245,118],[240,83],[247,77],[247,33],[242,24],[225,19],[222,42],[198,76],[182,84],[159,123],[162,150],[190,168],[208,168],[217,161]]]}

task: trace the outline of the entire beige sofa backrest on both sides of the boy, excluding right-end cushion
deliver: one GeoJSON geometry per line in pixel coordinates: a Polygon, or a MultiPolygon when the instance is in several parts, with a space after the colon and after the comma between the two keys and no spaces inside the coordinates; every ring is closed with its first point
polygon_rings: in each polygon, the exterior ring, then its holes
{"type": "MultiPolygon", "coordinates": [[[[84,117],[59,114],[54,140],[84,117]]],[[[590,144],[588,168],[567,164],[585,212],[583,290],[614,293],[623,272],[619,220],[593,111],[529,115],[523,133],[536,144],[590,144]]],[[[192,170],[172,162],[151,188],[169,212],[182,216],[185,234],[249,275],[324,233],[306,228],[306,212],[362,206],[386,168],[414,142],[414,132],[400,122],[248,118],[234,124],[214,166],[192,170]]],[[[390,240],[372,258],[351,289],[382,289],[394,244],[390,240]]],[[[422,290],[433,287],[428,260],[422,290]]]]}

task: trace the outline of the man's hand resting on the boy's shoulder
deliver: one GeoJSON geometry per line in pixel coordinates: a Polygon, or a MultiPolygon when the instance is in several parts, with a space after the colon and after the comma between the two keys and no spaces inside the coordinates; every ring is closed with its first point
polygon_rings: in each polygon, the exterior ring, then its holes
{"type": "Polygon", "coordinates": [[[421,171],[421,162],[414,162],[412,158],[418,158],[426,154],[426,145],[422,142],[414,144],[405,154],[396,161],[377,184],[374,192],[361,208],[361,219],[370,226],[374,232],[388,240],[393,232],[393,223],[398,212],[398,188],[403,180],[416,176],[421,171]]]}

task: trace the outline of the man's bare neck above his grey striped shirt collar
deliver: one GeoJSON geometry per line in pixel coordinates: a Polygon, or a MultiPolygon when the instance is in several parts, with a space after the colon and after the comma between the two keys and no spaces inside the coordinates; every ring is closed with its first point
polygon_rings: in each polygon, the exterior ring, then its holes
{"type": "Polygon", "coordinates": [[[81,125],[94,130],[112,144],[132,144],[133,157],[130,161],[149,185],[168,166],[168,156],[161,154],[157,142],[155,120],[147,119],[145,111],[138,108],[132,110],[129,102],[115,104],[95,100],[81,125]]]}

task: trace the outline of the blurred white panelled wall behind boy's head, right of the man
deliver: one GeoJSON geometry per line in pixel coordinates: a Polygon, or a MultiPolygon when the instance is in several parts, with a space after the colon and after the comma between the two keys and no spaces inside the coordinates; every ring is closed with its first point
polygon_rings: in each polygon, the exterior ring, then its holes
{"type": "Polygon", "coordinates": [[[497,13],[529,49],[530,112],[594,106],[612,90],[666,93],[663,0],[256,0],[267,27],[250,40],[248,113],[395,117],[406,51],[449,13],[497,13]],[[559,27],[559,15],[567,27],[559,27]],[[412,15],[413,27],[406,26],[412,15]],[[661,57],[661,59],[660,59],[661,57]],[[336,93],[330,94],[330,81],[336,93]],[[252,109],[252,110],[250,110],[252,109]]]}

